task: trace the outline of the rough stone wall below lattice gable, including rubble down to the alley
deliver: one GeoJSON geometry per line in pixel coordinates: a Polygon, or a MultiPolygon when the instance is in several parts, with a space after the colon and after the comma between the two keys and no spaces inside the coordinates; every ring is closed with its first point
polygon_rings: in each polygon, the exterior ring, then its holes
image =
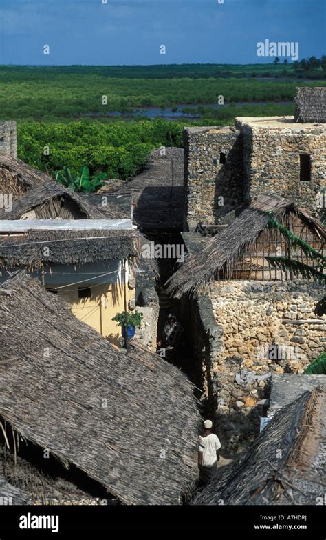
{"type": "Polygon", "coordinates": [[[325,351],[326,320],[313,314],[323,294],[322,286],[304,281],[215,283],[210,297],[221,348],[210,359],[211,391],[231,452],[257,437],[270,374],[302,373],[325,351]]]}

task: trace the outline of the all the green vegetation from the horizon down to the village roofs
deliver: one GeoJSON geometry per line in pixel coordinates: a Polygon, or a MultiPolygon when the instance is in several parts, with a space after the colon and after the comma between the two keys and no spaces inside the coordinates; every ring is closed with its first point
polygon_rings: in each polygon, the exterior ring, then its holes
{"type": "MultiPolygon", "coordinates": [[[[294,114],[295,79],[307,76],[304,67],[0,66],[0,119],[18,121],[19,157],[53,177],[63,167],[77,176],[81,166],[88,166],[91,177],[102,172],[127,180],[153,148],[169,146],[171,139],[174,146],[183,146],[184,126],[223,126],[237,116],[294,114]],[[213,108],[210,104],[217,105],[219,96],[225,104],[213,108]],[[126,121],[128,114],[151,106],[160,114],[171,108],[175,121],[126,121]],[[115,111],[123,116],[108,116],[115,111]]],[[[313,70],[316,79],[325,73],[320,65],[313,70]]]]}

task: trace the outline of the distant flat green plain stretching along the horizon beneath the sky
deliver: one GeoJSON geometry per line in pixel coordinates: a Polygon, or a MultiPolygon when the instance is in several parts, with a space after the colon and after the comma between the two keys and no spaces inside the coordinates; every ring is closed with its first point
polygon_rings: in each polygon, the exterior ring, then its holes
{"type": "MultiPolygon", "coordinates": [[[[225,103],[232,103],[292,100],[296,93],[297,83],[293,77],[287,77],[289,73],[296,73],[293,65],[282,66],[285,70],[283,77],[287,80],[280,81],[258,80],[246,74],[245,78],[239,78],[232,71],[228,77],[220,77],[217,66],[188,67],[189,74],[187,66],[175,66],[176,74],[171,78],[167,74],[171,74],[173,66],[153,66],[153,69],[151,66],[122,66],[116,68],[116,72],[111,67],[101,66],[0,66],[0,119],[63,121],[80,119],[87,114],[100,117],[114,111],[126,114],[140,107],[217,103],[219,95],[224,96],[225,103]],[[215,74],[212,74],[212,67],[215,74]],[[122,72],[123,76],[118,77],[122,72]],[[127,78],[129,72],[132,75],[127,78]],[[161,72],[161,78],[157,72],[161,72]],[[194,72],[197,72],[195,77],[194,72]],[[134,77],[135,74],[138,78],[134,77]]],[[[279,68],[272,64],[263,67],[268,68],[272,76],[275,75],[273,69],[279,68]]],[[[241,68],[250,69],[249,66],[241,68]]],[[[261,66],[256,66],[252,74],[263,73],[260,70],[261,66]]],[[[309,84],[316,86],[320,82],[309,84]]]]}

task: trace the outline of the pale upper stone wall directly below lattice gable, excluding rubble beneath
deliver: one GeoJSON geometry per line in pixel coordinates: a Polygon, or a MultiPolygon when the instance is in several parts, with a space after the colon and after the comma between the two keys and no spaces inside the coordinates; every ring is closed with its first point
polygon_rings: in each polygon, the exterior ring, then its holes
{"type": "Polygon", "coordinates": [[[298,280],[215,283],[213,309],[224,331],[226,355],[239,356],[244,368],[257,369],[257,354],[262,351],[257,348],[275,343],[284,346],[283,356],[289,352],[290,359],[280,359],[275,365],[271,360],[267,363],[276,372],[302,372],[325,350],[326,320],[314,315],[323,294],[322,286],[298,280]],[[296,350],[287,351],[285,346],[296,350]]]}

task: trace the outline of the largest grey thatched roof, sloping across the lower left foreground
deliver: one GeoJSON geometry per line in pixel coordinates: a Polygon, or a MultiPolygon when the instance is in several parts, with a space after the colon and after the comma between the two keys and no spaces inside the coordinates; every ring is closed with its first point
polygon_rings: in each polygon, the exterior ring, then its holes
{"type": "Polygon", "coordinates": [[[179,501],[197,476],[193,385],[140,344],[126,353],[25,272],[0,287],[0,416],[127,504],[179,501]]]}

